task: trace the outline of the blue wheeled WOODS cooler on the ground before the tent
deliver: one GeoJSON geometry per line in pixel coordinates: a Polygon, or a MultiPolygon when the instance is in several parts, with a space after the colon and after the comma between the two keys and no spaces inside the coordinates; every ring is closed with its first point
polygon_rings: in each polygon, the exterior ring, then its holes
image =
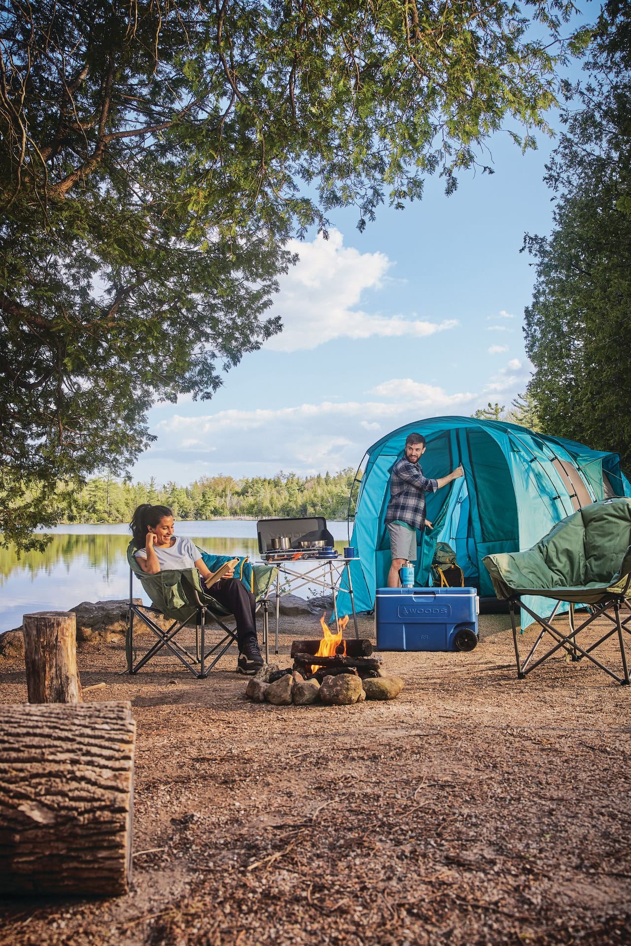
{"type": "Polygon", "coordinates": [[[377,650],[473,650],[476,588],[377,588],[377,650]]]}

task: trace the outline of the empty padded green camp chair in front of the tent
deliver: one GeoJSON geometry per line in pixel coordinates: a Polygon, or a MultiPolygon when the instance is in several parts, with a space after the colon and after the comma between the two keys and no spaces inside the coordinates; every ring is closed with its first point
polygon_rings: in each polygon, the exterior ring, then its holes
{"type": "MultiPolygon", "coordinates": [[[[604,499],[561,519],[532,549],[502,552],[482,559],[498,598],[508,599],[517,660],[517,677],[523,679],[557,651],[567,658],[587,657],[618,683],[629,684],[623,632],[631,633],[631,499],[604,499]],[[526,604],[524,595],[552,598],[552,614],[543,617],[526,604]],[[552,626],[561,604],[569,604],[569,631],[552,626]],[[587,620],[576,625],[574,608],[587,605],[587,620]],[[516,610],[521,607],[541,627],[530,653],[521,661],[517,645],[516,610]],[[613,608],[613,615],[609,613],[613,608]],[[621,618],[621,612],[623,620],[621,618]],[[614,625],[603,637],[582,647],[577,637],[597,618],[614,625]],[[618,634],[622,676],[605,667],[593,652],[613,634],[618,634]],[[541,640],[548,634],[554,645],[531,662],[541,640]]],[[[585,637],[585,636],[584,636],[585,637]]]]}

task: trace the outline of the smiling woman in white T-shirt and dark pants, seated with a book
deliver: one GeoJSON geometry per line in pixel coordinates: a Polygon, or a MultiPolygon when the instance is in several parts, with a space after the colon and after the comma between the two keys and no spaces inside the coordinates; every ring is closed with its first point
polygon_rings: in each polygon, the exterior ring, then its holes
{"type": "MultiPolygon", "coordinates": [[[[173,513],[168,506],[143,503],[134,512],[130,528],[136,545],[134,558],[146,574],[156,575],[163,569],[166,571],[196,568],[204,585],[214,577],[193,540],[173,534],[173,513]]],[[[235,616],[237,673],[255,674],[263,666],[263,657],[256,639],[256,604],[252,592],[233,575],[233,570],[226,571],[225,575],[213,584],[209,593],[235,616]]]]}

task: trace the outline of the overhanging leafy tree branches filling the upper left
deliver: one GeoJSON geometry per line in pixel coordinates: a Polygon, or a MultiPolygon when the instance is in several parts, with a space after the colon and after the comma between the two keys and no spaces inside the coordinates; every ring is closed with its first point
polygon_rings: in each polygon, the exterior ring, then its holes
{"type": "MultiPolygon", "coordinates": [[[[7,0],[0,530],[28,546],[280,330],[292,233],[421,196],[508,117],[546,130],[565,0],[7,0]],[[309,195],[309,196],[307,196],[309,195]],[[58,482],[68,490],[60,494],[58,482]]],[[[490,170],[490,168],[486,168],[490,170]]]]}

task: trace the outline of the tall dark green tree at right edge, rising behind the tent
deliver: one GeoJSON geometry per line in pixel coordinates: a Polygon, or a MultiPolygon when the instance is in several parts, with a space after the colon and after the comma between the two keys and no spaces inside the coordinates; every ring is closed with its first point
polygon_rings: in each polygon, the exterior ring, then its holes
{"type": "Polygon", "coordinates": [[[558,194],[526,309],[541,429],[631,464],[631,11],[608,5],[547,181],[558,194]],[[576,107],[578,106],[578,107],[576,107]]]}

